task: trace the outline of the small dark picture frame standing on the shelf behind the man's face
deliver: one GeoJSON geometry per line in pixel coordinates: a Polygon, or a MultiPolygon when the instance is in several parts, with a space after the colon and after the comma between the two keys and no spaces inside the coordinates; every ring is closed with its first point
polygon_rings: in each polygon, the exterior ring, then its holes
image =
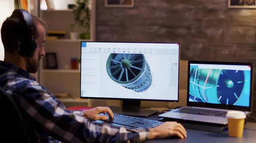
{"type": "Polygon", "coordinates": [[[46,56],[46,68],[47,69],[58,69],[57,54],[56,53],[45,53],[46,56]]]}

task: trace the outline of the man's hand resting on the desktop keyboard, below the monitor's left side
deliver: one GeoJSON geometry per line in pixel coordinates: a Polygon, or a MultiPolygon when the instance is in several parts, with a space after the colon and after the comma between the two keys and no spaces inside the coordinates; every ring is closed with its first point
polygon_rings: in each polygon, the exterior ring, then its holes
{"type": "Polygon", "coordinates": [[[96,120],[107,120],[108,117],[107,116],[102,116],[99,115],[100,113],[104,113],[105,112],[108,113],[110,118],[114,118],[113,112],[111,111],[111,109],[109,107],[96,107],[93,109],[89,109],[84,111],[84,117],[85,118],[89,118],[92,121],[96,121],[96,120]]]}

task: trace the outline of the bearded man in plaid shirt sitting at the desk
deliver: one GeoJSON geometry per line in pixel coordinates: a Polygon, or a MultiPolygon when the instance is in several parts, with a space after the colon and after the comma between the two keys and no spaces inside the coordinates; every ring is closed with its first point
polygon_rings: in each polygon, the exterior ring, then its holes
{"type": "MultiPolygon", "coordinates": [[[[29,14],[30,15],[30,14],[29,14]]],[[[1,28],[5,49],[4,61],[0,61],[0,86],[12,96],[20,107],[23,121],[32,143],[49,143],[56,140],[68,143],[85,142],[142,142],[169,136],[186,137],[186,130],[176,122],[166,122],[151,129],[126,129],[125,127],[99,124],[93,121],[107,119],[99,113],[113,112],[108,107],[96,107],[84,112],[67,110],[61,101],[35,81],[29,73],[38,71],[44,53],[47,23],[31,15],[32,37],[36,48],[31,56],[20,52],[21,39],[27,35],[26,22],[19,14],[8,17],[1,28]]]]}

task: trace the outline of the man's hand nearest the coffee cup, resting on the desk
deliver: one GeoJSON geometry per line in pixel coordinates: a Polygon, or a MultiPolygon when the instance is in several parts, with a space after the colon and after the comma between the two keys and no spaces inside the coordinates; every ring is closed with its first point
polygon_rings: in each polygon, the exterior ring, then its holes
{"type": "Polygon", "coordinates": [[[163,139],[171,136],[180,138],[187,137],[186,129],[177,122],[165,122],[159,126],[149,129],[149,139],[163,139]]]}

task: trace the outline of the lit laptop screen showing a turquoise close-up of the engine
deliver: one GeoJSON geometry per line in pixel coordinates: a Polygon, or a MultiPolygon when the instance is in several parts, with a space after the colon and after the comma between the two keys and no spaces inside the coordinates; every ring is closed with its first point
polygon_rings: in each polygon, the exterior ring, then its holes
{"type": "Polygon", "coordinates": [[[248,65],[190,64],[189,101],[249,107],[248,65]]]}

